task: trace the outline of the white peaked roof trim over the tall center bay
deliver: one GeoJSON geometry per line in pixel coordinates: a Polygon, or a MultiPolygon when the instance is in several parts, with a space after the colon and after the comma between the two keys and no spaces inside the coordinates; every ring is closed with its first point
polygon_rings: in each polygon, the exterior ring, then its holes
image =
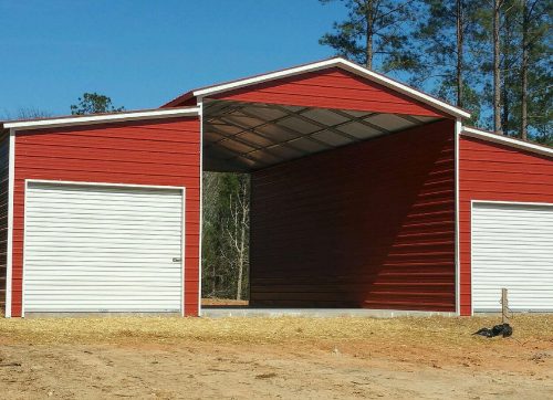
{"type": "Polygon", "coordinates": [[[422,103],[426,103],[426,104],[428,104],[435,108],[438,108],[447,114],[453,115],[455,117],[461,117],[461,118],[469,118],[470,117],[470,114],[461,108],[455,107],[450,104],[447,104],[446,102],[442,102],[442,101],[439,101],[432,96],[429,96],[426,93],[414,90],[413,87],[404,85],[403,83],[390,80],[389,77],[386,77],[384,75],[374,73],[373,71],[364,69],[363,66],[359,66],[355,63],[352,63],[351,61],[347,61],[347,60],[341,59],[341,57],[324,60],[324,61],[315,62],[312,64],[306,64],[306,65],[292,67],[289,70],[272,72],[269,74],[253,76],[253,77],[249,77],[249,78],[244,78],[244,80],[240,80],[240,81],[236,81],[236,82],[225,83],[221,85],[211,86],[211,87],[207,87],[207,88],[200,88],[198,91],[195,91],[192,94],[196,97],[205,97],[207,95],[213,95],[217,93],[221,93],[221,92],[226,92],[226,91],[230,91],[230,90],[236,90],[236,88],[240,88],[240,87],[252,85],[252,84],[258,84],[258,83],[262,83],[262,82],[267,82],[267,81],[288,77],[288,76],[292,76],[292,75],[302,74],[305,72],[312,72],[312,71],[323,70],[323,69],[333,67],[333,66],[349,71],[356,75],[366,77],[373,82],[376,82],[380,85],[389,87],[396,92],[403,93],[409,97],[413,97],[413,98],[416,98],[422,103]]]}

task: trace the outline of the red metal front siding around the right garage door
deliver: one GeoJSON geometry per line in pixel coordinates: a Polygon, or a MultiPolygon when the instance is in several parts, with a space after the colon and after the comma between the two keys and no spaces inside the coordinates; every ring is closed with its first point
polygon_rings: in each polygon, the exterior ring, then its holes
{"type": "Polygon", "coordinates": [[[459,144],[460,313],[471,314],[471,200],[553,203],[553,159],[461,136],[459,144]]]}

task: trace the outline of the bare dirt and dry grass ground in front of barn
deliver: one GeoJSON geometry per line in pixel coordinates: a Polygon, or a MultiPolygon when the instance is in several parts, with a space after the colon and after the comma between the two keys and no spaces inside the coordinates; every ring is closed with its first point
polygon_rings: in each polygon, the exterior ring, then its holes
{"type": "Polygon", "coordinates": [[[553,399],[553,316],[0,320],[2,399],[553,399]]]}

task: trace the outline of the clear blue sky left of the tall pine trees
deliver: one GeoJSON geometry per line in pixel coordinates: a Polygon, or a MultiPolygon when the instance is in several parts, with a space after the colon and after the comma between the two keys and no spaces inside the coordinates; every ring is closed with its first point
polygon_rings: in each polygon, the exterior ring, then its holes
{"type": "Polygon", "coordinates": [[[70,114],[84,92],[127,109],[333,55],[346,14],[317,0],[0,0],[0,118],[70,114]]]}

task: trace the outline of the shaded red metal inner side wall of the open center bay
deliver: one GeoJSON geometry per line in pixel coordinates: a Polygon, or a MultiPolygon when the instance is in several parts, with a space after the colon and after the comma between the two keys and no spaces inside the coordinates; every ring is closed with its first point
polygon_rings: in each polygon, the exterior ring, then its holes
{"type": "Polygon", "coordinates": [[[254,172],[252,304],[453,312],[453,131],[442,120],[254,172]]]}

